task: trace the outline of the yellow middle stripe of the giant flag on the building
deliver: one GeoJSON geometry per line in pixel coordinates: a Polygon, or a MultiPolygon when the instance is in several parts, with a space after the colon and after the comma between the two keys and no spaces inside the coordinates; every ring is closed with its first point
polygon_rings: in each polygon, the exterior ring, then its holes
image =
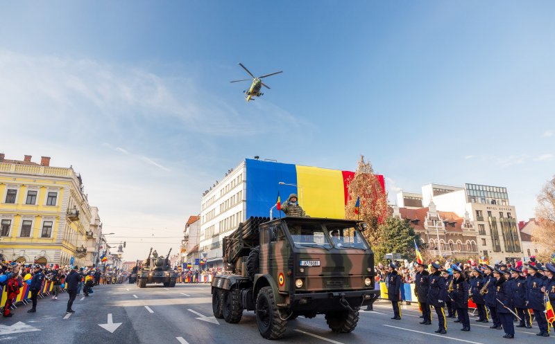
{"type": "Polygon", "coordinates": [[[344,219],[343,172],[300,165],[296,169],[299,205],[307,215],[344,219]]]}

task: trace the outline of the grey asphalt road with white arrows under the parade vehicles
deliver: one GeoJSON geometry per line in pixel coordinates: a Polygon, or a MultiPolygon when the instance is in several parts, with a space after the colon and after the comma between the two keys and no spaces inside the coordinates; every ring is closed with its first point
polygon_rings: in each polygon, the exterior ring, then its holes
{"type": "MultiPolygon", "coordinates": [[[[0,343],[176,343],[176,344],[253,344],[268,343],[257,329],[255,314],[244,312],[239,324],[228,324],[212,317],[210,286],[178,284],[175,288],[135,284],[94,287],[88,298],[78,296],[75,314],[65,314],[67,294],[58,300],[39,300],[37,313],[31,306],[20,306],[12,318],[0,318],[0,343]],[[108,324],[112,318],[114,325],[108,324]],[[117,325],[120,324],[121,325],[117,325]],[[105,325],[101,327],[99,325],[105,325]],[[24,332],[26,331],[26,332],[24,332]],[[113,332],[113,333],[112,333],[113,332]]],[[[555,335],[538,337],[538,328],[517,329],[515,339],[502,338],[502,330],[475,325],[461,332],[461,325],[447,320],[447,334],[434,333],[434,325],[420,325],[416,306],[404,306],[402,320],[391,320],[391,305],[379,301],[375,311],[361,312],[359,325],[350,334],[334,334],[323,316],[297,318],[288,323],[280,343],[554,343],[555,335]]],[[[436,321],[435,317],[432,322],[436,321]]]]}

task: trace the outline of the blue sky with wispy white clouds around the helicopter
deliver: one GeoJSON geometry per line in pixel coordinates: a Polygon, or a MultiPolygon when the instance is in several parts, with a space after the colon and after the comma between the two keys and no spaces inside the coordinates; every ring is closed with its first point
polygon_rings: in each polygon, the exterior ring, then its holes
{"type": "MultiPolygon", "coordinates": [[[[203,190],[255,155],[354,170],[364,154],[391,201],[429,182],[505,186],[527,219],[555,173],[554,12],[552,1],[3,2],[0,151],[73,165],[121,236],[180,235],[203,190]],[[246,104],[248,84],[229,83],[247,76],[237,62],[284,73],[246,104]]],[[[168,240],[160,251],[177,249],[168,240]]]]}

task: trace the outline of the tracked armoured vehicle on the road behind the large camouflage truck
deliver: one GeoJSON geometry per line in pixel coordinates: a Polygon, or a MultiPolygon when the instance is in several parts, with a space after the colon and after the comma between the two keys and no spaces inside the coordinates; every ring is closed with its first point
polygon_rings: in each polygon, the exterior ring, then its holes
{"type": "Polygon", "coordinates": [[[148,257],[143,261],[142,269],[137,272],[137,286],[139,288],[146,287],[147,283],[163,283],[164,287],[176,287],[177,274],[170,269],[168,262],[170,253],[171,248],[165,258],[153,258],[151,257],[151,247],[148,257]]]}

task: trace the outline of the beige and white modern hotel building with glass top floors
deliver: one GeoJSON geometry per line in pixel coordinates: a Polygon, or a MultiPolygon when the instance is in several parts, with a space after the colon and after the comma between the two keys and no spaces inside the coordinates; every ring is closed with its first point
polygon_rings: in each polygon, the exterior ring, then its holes
{"type": "Polygon", "coordinates": [[[509,203],[506,188],[472,183],[464,187],[436,183],[422,186],[422,202],[432,201],[439,211],[470,218],[480,256],[494,261],[522,257],[516,209],[509,203]]]}

